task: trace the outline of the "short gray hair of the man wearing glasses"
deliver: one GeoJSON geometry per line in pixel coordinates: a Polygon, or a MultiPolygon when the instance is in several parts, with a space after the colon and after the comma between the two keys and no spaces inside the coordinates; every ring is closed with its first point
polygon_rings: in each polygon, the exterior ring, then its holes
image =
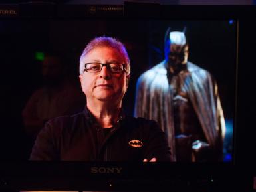
{"type": "Polygon", "coordinates": [[[90,41],[86,47],[84,48],[84,51],[82,52],[82,55],[80,56],[80,66],[79,66],[79,72],[82,74],[84,72],[84,60],[86,55],[94,48],[97,47],[111,47],[115,48],[120,52],[120,54],[124,57],[125,65],[126,65],[126,74],[130,74],[130,58],[128,56],[128,53],[126,51],[126,48],[124,47],[124,44],[120,41],[118,41],[114,37],[95,37],[90,41]]]}

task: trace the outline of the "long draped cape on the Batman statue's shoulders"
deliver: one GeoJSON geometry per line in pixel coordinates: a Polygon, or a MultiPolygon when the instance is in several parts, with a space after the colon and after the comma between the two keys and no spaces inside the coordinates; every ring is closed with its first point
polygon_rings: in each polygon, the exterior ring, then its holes
{"type": "MultiPolygon", "coordinates": [[[[156,120],[160,124],[168,137],[172,161],[176,161],[173,83],[167,65],[164,60],[138,79],[134,116],[156,120]]],[[[187,62],[186,70],[181,70],[176,78],[188,94],[207,143],[222,151],[225,120],[215,80],[207,70],[192,62],[187,62]]]]}

